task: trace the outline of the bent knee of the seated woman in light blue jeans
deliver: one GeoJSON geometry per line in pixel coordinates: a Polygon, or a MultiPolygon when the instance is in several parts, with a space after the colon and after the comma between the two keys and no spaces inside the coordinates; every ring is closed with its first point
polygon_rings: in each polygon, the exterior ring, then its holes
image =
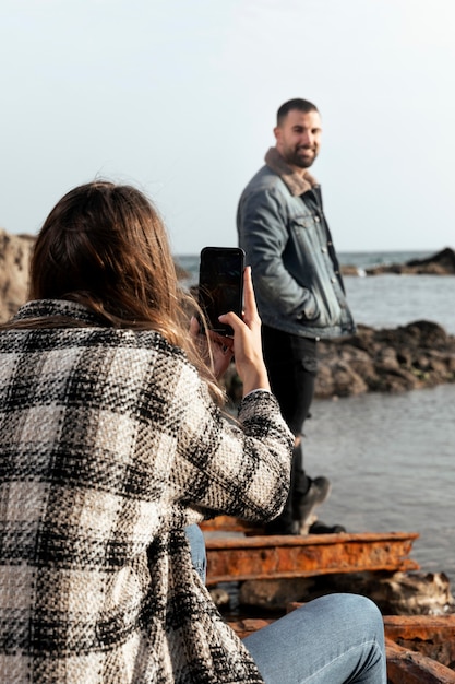
{"type": "Polygon", "coordinates": [[[385,684],[384,624],[364,597],[314,599],[246,637],[266,684],[385,684]]]}

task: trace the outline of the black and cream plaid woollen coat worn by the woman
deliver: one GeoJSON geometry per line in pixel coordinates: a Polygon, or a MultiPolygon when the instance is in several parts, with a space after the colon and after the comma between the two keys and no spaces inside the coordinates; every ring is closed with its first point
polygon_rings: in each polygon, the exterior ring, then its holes
{"type": "Polygon", "coordinates": [[[261,682],[191,564],[183,528],[275,517],[292,437],[274,397],[235,425],[184,353],[69,302],[0,333],[0,681],[261,682]]]}

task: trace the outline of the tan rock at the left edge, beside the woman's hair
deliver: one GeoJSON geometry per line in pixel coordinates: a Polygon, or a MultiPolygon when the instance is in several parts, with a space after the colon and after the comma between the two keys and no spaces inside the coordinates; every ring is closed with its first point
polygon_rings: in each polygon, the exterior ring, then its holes
{"type": "Polygon", "coordinates": [[[9,235],[0,228],[0,322],[11,318],[27,298],[34,244],[32,235],[9,235]]]}

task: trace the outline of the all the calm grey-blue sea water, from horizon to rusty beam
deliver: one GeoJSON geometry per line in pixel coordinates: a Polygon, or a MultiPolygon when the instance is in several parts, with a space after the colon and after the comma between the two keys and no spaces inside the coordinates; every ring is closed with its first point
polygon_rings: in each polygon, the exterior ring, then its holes
{"type": "MultiPolygon", "coordinates": [[[[340,253],[364,269],[403,263],[421,252],[340,253]]],[[[199,257],[176,260],[196,282],[199,257]]],[[[396,328],[431,320],[455,334],[455,276],[346,276],[358,323],[396,328]]],[[[351,532],[418,532],[410,557],[424,571],[444,571],[455,590],[455,385],[400,394],[315,400],[304,425],[304,461],[333,484],[319,509],[351,532]]]]}

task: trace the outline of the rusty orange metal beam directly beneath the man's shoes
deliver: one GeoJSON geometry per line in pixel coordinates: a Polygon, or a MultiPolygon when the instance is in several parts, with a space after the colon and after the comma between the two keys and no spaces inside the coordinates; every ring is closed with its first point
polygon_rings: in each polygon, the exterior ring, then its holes
{"type": "Polygon", "coordinates": [[[207,585],[331,573],[415,570],[415,532],[276,536],[205,535],[207,585]]]}

